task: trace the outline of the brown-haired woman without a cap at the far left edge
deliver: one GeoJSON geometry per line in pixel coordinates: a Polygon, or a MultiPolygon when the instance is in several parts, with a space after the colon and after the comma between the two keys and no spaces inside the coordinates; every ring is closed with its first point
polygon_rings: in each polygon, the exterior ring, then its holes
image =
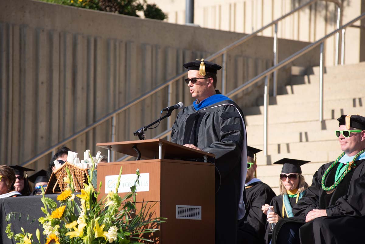
{"type": "Polygon", "coordinates": [[[8,165],[0,165],[0,198],[20,196],[20,192],[14,190],[15,174],[8,165]]]}

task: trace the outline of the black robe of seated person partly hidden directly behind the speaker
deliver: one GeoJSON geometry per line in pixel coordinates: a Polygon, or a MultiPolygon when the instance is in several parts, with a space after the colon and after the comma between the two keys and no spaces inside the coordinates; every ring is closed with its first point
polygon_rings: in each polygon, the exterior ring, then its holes
{"type": "Polygon", "coordinates": [[[261,210],[265,203],[269,204],[275,192],[263,182],[255,182],[245,188],[246,215],[238,221],[237,244],[264,244],[266,214],[261,210]]]}

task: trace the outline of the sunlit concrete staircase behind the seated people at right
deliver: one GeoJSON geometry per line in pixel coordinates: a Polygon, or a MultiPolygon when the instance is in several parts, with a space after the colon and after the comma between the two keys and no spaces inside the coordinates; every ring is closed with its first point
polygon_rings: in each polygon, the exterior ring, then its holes
{"type": "MultiPolygon", "coordinates": [[[[335,130],[341,114],[365,115],[365,62],[326,67],[323,81],[324,121],[319,122],[319,67],[303,72],[292,68],[290,84],[270,97],[268,108],[268,156],[257,154],[258,178],[278,194],[281,165],[273,162],[284,157],[310,160],[303,175],[311,184],[312,176],[323,163],[341,153],[335,130]],[[303,73],[306,73],[303,75],[303,73]]],[[[248,145],[263,149],[264,106],[244,108],[248,145]]]]}

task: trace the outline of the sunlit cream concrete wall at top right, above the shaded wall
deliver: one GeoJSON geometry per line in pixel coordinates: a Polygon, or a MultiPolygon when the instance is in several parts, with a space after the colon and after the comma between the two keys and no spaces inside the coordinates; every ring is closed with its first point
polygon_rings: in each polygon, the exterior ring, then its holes
{"type": "MultiPolygon", "coordinates": [[[[148,0],[156,3],[168,16],[168,22],[185,23],[185,0],[148,0]]],[[[280,18],[309,0],[195,0],[194,23],[201,27],[250,34],[280,18]]],[[[341,1],[341,0],[340,0],[341,1]]],[[[365,0],[342,0],[343,23],[365,10],[365,0]]],[[[278,24],[278,37],[314,42],[335,30],[337,10],[331,2],[320,0],[288,16],[278,24]]],[[[345,64],[365,61],[365,20],[346,29],[345,64]],[[363,26],[359,28],[359,26],[363,26]]],[[[262,35],[272,37],[274,29],[262,35]]],[[[326,64],[335,64],[335,38],[326,41],[326,64]]],[[[341,48],[341,46],[340,46],[341,48]]]]}

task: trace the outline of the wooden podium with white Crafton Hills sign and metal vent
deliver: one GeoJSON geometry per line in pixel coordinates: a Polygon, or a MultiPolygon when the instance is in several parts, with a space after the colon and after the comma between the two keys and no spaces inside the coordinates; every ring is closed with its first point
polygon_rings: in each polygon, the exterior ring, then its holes
{"type": "MultiPolygon", "coordinates": [[[[168,218],[166,223],[158,226],[160,231],[150,237],[155,243],[215,242],[215,166],[209,162],[192,161],[214,157],[213,154],[162,139],[96,145],[134,157],[137,152],[133,146],[141,152],[144,160],[98,164],[97,185],[99,190],[99,183],[103,182],[100,198],[109,192],[108,187],[114,186],[115,189],[122,166],[121,185],[127,191],[133,181],[130,179],[139,168],[141,190],[137,191],[137,206],[143,202],[156,203],[151,209],[153,217],[168,218]]],[[[123,191],[121,187],[120,191],[123,191]]],[[[120,196],[125,194],[119,193],[120,196]]]]}

